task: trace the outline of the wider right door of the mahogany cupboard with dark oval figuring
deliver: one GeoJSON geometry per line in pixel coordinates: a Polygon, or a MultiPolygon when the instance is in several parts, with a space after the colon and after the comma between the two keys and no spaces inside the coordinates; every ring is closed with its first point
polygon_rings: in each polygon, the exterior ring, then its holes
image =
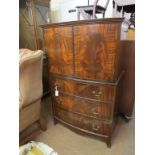
{"type": "Polygon", "coordinates": [[[74,27],[75,74],[83,79],[114,80],[119,24],[74,27]]]}

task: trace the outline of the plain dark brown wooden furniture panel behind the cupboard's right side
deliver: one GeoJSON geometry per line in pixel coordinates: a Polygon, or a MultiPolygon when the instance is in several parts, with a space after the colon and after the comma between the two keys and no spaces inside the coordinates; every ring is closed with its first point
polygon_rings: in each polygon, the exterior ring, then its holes
{"type": "Polygon", "coordinates": [[[125,75],[122,79],[119,112],[131,117],[135,102],[135,41],[122,41],[121,45],[125,75]]]}

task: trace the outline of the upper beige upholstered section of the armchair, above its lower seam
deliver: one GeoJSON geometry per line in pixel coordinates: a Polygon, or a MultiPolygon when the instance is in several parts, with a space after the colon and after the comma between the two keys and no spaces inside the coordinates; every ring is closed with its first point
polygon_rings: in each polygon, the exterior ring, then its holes
{"type": "Polygon", "coordinates": [[[19,108],[42,97],[43,51],[19,50],[19,108]]]}

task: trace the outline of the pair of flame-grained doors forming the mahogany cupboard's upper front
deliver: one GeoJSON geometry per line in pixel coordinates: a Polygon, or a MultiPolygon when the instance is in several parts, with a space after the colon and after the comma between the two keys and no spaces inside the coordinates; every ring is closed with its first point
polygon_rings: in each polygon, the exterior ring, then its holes
{"type": "Polygon", "coordinates": [[[49,72],[80,79],[117,80],[121,22],[44,28],[49,72]]]}

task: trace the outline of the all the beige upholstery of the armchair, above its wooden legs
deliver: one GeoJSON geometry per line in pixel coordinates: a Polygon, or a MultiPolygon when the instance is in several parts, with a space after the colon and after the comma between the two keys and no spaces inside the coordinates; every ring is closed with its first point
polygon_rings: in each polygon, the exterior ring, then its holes
{"type": "Polygon", "coordinates": [[[43,51],[19,51],[19,131],[40,119],[43,51]]]}

